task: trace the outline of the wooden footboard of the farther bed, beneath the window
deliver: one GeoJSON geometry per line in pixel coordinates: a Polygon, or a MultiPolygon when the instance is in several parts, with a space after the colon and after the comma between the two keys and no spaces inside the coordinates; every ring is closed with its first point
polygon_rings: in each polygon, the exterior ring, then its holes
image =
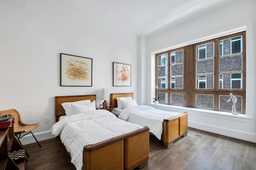
{"type": "Polygon", "coordinates": [[[184,112],[182,115],[163,121],[162,141],[164,147],[169,148],[173,142],[180,137],[186,136],[188,133],[188,113],[184,112]]]}

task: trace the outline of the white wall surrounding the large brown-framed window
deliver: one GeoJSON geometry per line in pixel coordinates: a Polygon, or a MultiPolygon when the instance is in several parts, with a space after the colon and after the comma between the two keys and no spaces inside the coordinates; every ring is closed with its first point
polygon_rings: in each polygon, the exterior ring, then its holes
{"type": "Polygon", "coordinates": [[[188,111],[190,127],[256,142],[256,1],[240,0],[211,14],[204,14],[193,20],[180,23],[147,37],[147,75],[144,104],[150,104],[154,97],[154,57],[163,49],[174,49],[192,41],[207,39],[210,35],[246,26],[246,116],[217,111],[191,109],[186,107],[157,106],[159,109],[188,111]],[[178,46],[177,46],[178,45],[178,46]]]}

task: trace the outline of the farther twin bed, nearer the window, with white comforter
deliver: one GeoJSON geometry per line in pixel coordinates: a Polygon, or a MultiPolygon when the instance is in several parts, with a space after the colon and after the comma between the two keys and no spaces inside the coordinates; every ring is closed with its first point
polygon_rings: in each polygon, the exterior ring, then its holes
{"type": "MultiPolygon", "coordinates": [[[[133,96],[133,93],[110,94],[110,105],[112,105],[112,107],[118,108],[117,98],[133,98],[133,96]]],[[[136,108],[137,106],[133,107],[134,108],[129,107],[124,110],[113,109],[114,114],[118,116],[118,118],[124,119],[131,123],[142,126],[146,124],[150,128],[150,134],[155,135],[158,139],[162,140],[164,142],[165,148],[169,148],[170,146],[172,146],[174,141],[176,141],[180,137],[186,136],[188,133],[187,112],[166,112],[158,109],[153,109],[149,106],[138,106],[139,108],[136,108]],[[116,111],[117,113],[115,113],[116,111]],[[153,118],[148,118],[148,115],[153,118]],[[156,125],[158,125],[158,127],[156,127],[156,125]]]]}

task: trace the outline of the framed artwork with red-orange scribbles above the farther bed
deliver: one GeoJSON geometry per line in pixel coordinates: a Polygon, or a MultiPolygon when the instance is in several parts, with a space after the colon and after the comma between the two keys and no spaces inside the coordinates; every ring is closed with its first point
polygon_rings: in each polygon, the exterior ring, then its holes
{"type": "Polygon", "coordinates": [[[113,86],[131,86],[131,65],[113,62],[113,86]]]}

